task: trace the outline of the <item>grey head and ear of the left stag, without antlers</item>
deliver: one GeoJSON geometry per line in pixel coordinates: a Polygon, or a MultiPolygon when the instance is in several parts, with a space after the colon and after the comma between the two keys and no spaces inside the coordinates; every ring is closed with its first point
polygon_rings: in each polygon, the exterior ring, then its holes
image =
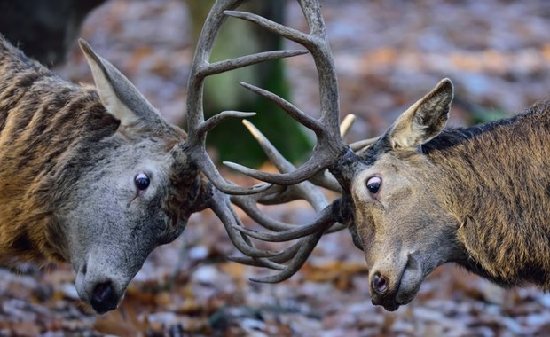
{"type": "Polygon", "coordinates": [[[90,156],[58,211],[76,290],[94,310],[116,308],[154,247],[184,231],[200,210],[199,170],[185,153],[185,133],[169,125],[138,90],[81,40],[106,113],[120,121],[90,156]]]}

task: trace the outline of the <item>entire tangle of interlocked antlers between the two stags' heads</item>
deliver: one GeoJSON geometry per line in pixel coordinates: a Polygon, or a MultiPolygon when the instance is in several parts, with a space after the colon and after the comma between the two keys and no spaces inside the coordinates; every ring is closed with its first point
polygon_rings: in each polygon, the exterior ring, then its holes
{"type": "MultiPolygon", "coordinates": [[[[329,203],[318,186],[336,192],[341,191],[340,185],[333,176],[328,174],[326,169],[333,166],[342,155],[349,153],[350,146],[342,140],[341,136],[341,126],[339,125],[340,110],[338,85],[336,82],[334,61],[326,38],[326,28],[320,12],[318,0],[298,0],[310,27],[310,33],[308,34],[282,26],[279,23],[267,20],[252,13],[232,11],[232,9],[236,8],[242,2],[242,0],[218,0],[208,14],[205,26],[203,27],[198,43],[199,47],[193,59],[193,68],[188,89],[188,144],[196,148],[196,151],[192,152],[193,157],[196,162],[200,163],[201,169],[208,177],[208,180],[214,184],[219,191],[232,195],[230,199],[223,193],[215,190],[213,192],[215,195],[210,201],[212,203],[210,208],[212,208],[216,212],[216,215],[224,222],[232,242],[242,253],[248,255],[248,257],[233,257],[232,260],[280,270],[279,274],[275,276],[254,278],[256,281],[261,282],[279,282],[291,277],[300,269],[324,233],[345,228],[341,224],[334,225],[333,208],[334,202],[337,203],[338,201],[329,203]],[[305,53],[305,51],[267,51],[237,59],[209,63],[208,58],[216,34],[226,19],[226,16],[254,22],[272,33],[286,37],[295,43],[302,44],[310,51],[318,69],[320,96],[320,117],[318,119],[311,117],[309,114],[305,114],[284,98],[280,98],[267,90],[263,90],[248,83],[240,83],[248,90],[255,92],[263,98],[271,100],[296,121],[300,122],[308,129],[311,129],[317,136],[317,145],[313,149],[313,154],[310,159],[296,169],[280,155],[271,143],[269,143],[252,124],[245,122],[248,129],[260,142],[263,150],[280,172],[280,174],[271,174],[255,169],[248,169],[235,163],[226,163],[233,169],[248,176],[269,183],[255,185],[250,188],[243,188],[228,183],[220,176],[206,153],[205,138],[208,130],[212,129],[219,121],[223,121],[229,117],[247,117],[252,114],[234,111],[224,112],[210,118],[208,121],[204,121],[204,114],[202,112],[204,79],[208,75],[223,73],[235,68],[246,67],[270,59],[301,55],[305,53]],[[271,219],[263,215],[257,206],[258,204],[280,204],[299,199],[307,200],[315,211],[318,212],[318,216],[313,222],[302,226],[282,223],[275,219],[271,219]],[[232,210],[230,200],[232,203],[242,208],[248,216],[257,223],[275,233],[261,233],[244,228],[242,223],[240,223],[240,219],[232,210]],[[270,254],[270,252],[257,250],[248,239],[248,236],[267,241],[300,240],[282,252],[270,254]]],[[[345,132],[345,129],[349,129],[349,127],[349,122],[345,121],[342,123],[342,133],[345,132]]],[[[351,145],[351,148],[355,150],[364,145],[365,142],[360,142],[351,145]]]]}

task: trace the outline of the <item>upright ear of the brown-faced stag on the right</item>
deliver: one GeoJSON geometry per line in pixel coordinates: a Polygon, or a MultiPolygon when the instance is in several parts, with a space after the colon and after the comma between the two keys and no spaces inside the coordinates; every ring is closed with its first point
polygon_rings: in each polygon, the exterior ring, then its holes
{"type": "Polygon", "coordinates": [[[452,82],[445,78],[397,118],[384,136],[389,145],[413,150],[436,137],[449,118],[452,96],[452,82]]]}

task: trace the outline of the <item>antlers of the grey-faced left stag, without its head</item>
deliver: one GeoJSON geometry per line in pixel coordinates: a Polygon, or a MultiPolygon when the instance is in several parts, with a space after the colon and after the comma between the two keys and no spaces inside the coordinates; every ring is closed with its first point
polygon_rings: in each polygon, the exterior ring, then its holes
{"type": "MultiPolygon", "coordinates": [[[[222,223],[224,223],[224,227],[227,230],[230,239],[232,239],[232,243],[243,254],[254,256],[259,261],[263,261],[263,257],[276,256],[279,255],[279,253],[256,249],[246,236],[242,235],[240,231],[235,230],[236,227],[242,226],[242,223],[232,209],[229,197],[224,193],[247,195],[256,192],[263,192],[269,189],[271,184],[259,184],[252,187],[243,188],[227,182],[224,177],[220,175],[206,151],[206,135],[208,130],[214,128],[218,123],[228,118],[242,118],[254,114],[226,111],[216,114],[205,121],[202,105],[204,81],[206,77],[213,74],[224,73],[236,68],[247,67],[249,65],[271,59],[301,55],[303,53],[307,53],[307,51],[268,51],[237,59],[228,59],[216,63],[210,63],[209,57],[217,32],[226,19],[224,11],[232,10],[242,2],[243,0],[217,1],[209,12],[208,18],[206,19],[202,32],[200,33],[200,38],[197,43],[198,47],[195,52],[190,79],[188,82],[188,137],[185,142],[185,153],[191,157],[191,161],[196,163],[196,165],[208,178],[208,182],[203,182],[203,188],[210,191],[211,197],[205,199],[206,204],[202,205],[201,208],[212,208],[212,210],[216,213],[216,216],[218,216],[222,223]],[[214,185],[216,188],[212,188],[210,184],[214,185]]],[[[265,263],[269,264],[270,262],[267,261],[265,263]]]]}

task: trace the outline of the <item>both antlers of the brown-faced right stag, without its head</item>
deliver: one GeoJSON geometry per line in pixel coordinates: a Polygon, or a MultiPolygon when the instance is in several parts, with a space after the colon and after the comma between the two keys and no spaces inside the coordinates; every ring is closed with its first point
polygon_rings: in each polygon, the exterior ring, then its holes
{"type": "Polygon", "coordinates": [[[327,169],[333,166],[336,161],[345,153],[351,151],[361,151],[365,146],[373,144],[377,138],[366,139],[352,145],[346,145],[342,137],[350,129],[353,123],[353,117],[345,119],[342,125],[339,125],[339,99],[338,85],[334,70],[334,62],[330,46],[326,38],[326,28],[320,13],[320,7],[317,0],[298,0],[303,14],[310,27],[310,33],[304,34],[294,29],[281,26],[270,20],[266,20],[255,14],[247,12],[225,12],[227,15],[238,17],[240,19],[255,22],[261,27],[270,30],[273,33],[282,35],[295,43],[302,44],[310,51],[315,60],[318,69],[319,97],[321,114],[318,120],[303,113],[299,108],[287,102],[279,96],[257,88],[253,85],[241,83],[245,88],[254,91],[264,98],[270,99],[276,105],[281,107],[296,121],[305,127],[313,130],[317,136],[317,145],[309,161],[303,166],[295,169],[292,164],[263,137],[263,135],[245,121],[253,136],[262,145],[268,158],[279,169],[280,174],[270,174],[254,169],[248,169],[235,163],[226,163],[233,169],[239,170],[248,176],[271,184],[269,189],[259,192],[255,195],[232,196],[232,202],[245,210],[245,212],[264,228],[273,232],[251,231],[244,227],[236,227],[238,231],[264,241],[288,241],[300,239],[293,246],[285,249],[280,255],[267,259],[257,259],[254,256],[232,257],[233,261],[255,266],[263,266],[274,270],[280,270],[279,274],[265,277],[253,278],[260,282],[279,282],[290,278],[299,270],[310,255],[313,248],[317,245],[321,236],[329,231],[340,231],[344,228],[342,224],[336,224],[334,203],[329,204],[318,188],[325,187],[329,190],[341,192],[341,186],[334,176],[331,176],[327,169]],[[258,209],[257,204],[280,204],[291,200],[307,200],[311,206],[318,212],[317,218],[308,224],[296,226],[287,223],[280,223],[263,213],[258,209]],[[282,264],[287,263],[287,264],[282,264]]]}

